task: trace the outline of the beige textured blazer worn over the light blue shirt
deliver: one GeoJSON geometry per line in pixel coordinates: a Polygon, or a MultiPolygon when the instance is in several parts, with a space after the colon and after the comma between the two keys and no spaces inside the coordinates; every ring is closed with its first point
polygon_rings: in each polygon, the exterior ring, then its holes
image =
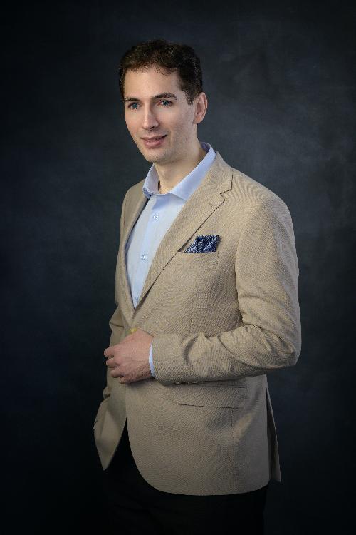
{"type": "Polygon", "coordinates": [[[160,491],[236,494],[281,481],[266,373],[300,354],[288,208],[216,153],[164,235],[134,309],[125,243],[145,205],[142,184],[122,204],[110,345],[130,327],[149,332],[157,379],[124,385],[108,373],[94,424],[103,469],[127,419],[137,468],[160,491]],[[215,252],[184,253],[209,234],[219,235],[215,252]]]}

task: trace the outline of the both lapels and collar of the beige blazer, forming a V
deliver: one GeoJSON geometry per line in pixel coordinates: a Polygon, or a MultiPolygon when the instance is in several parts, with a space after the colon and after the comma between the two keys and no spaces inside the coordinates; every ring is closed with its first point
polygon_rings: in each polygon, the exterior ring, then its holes
{"type": "Polygon", "coordinates": [[[130,294],[130,287],[127,281],[127,272],[125,264],[125,244],[129,238],[133,225],[135,225],[138,216],[140,215],[147,197],[142,192],[142,184],[144,180],[137,183],[130,188],[128,193],[124,225],[122,228],[122,238],[120,239],[120,250],[118,255],[118,268],[120,276],[122,277],[122,289],[125,294],[125,301],[130,310],[129,315],[133,317],[135,312],[140,307],[140,303],[145,298],[145,295],[150,290],[158,275],[164,267],[169,263],[175,253],[182,248],[189,238],[196,232],[204,221],[209,218],[209,215],[224,202],[224,197],[221,193],[231,190],[233,169],[228,165],[218,151],[216,151],[216,158],[211,164],[208,173],[201,181],[197,190],[184,204],[182,210],[174,219],[172,225],[164,235],[159,247],[156,251],[155,257],[152,260],[150,270],[147,274],[145,285],[142,288],[140,299],[137,302],[136,309],[132,305],[132,298],[130,294]]]}

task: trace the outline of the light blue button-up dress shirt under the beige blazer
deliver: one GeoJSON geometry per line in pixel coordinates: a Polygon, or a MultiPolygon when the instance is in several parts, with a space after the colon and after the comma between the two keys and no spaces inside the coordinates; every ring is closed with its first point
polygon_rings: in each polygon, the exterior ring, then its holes
{"type": "MultiPolygon", "coordinates": [[[[184,203],[197,189],[201,180],[214,162],[216,153],[209,143],[202,141],[201,147],[206,156],[198,163],[189,175],[172,188],[168,193],[158,193],[158,175],[152,164],[142,186],[148,201],[140,213],[125,247],[127,279],[130,285],[133,306],[137,306],[147,273],[155,256],[159,243],[182,210],[184,203]]],[[[152,344],[150,347],[150,369],[155,377],[153,367],[152,344]]]]}

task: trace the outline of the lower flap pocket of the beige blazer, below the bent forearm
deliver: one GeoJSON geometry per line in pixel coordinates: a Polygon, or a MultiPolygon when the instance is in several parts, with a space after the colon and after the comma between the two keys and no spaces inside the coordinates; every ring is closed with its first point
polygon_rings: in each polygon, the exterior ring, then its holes
{"type": "Polygon", "coordinates": [[[174,387],[174,402],[179,405],[239,408],[244,405],[245,399],[246,387],[213,387],[202,384],[183,384],[174,387]]]}

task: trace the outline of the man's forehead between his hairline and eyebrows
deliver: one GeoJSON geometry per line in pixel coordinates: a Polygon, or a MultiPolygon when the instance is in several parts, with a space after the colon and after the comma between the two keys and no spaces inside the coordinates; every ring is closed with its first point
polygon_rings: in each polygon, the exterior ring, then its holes
{"type": "Polygon", "coordinates": [[[177,72],[162,71],[156,67],[127,71],[124,83],[124,96],[151,96],[157,93],[172,92],[178,95],[183,91],[179,88],[177,72]]]}

